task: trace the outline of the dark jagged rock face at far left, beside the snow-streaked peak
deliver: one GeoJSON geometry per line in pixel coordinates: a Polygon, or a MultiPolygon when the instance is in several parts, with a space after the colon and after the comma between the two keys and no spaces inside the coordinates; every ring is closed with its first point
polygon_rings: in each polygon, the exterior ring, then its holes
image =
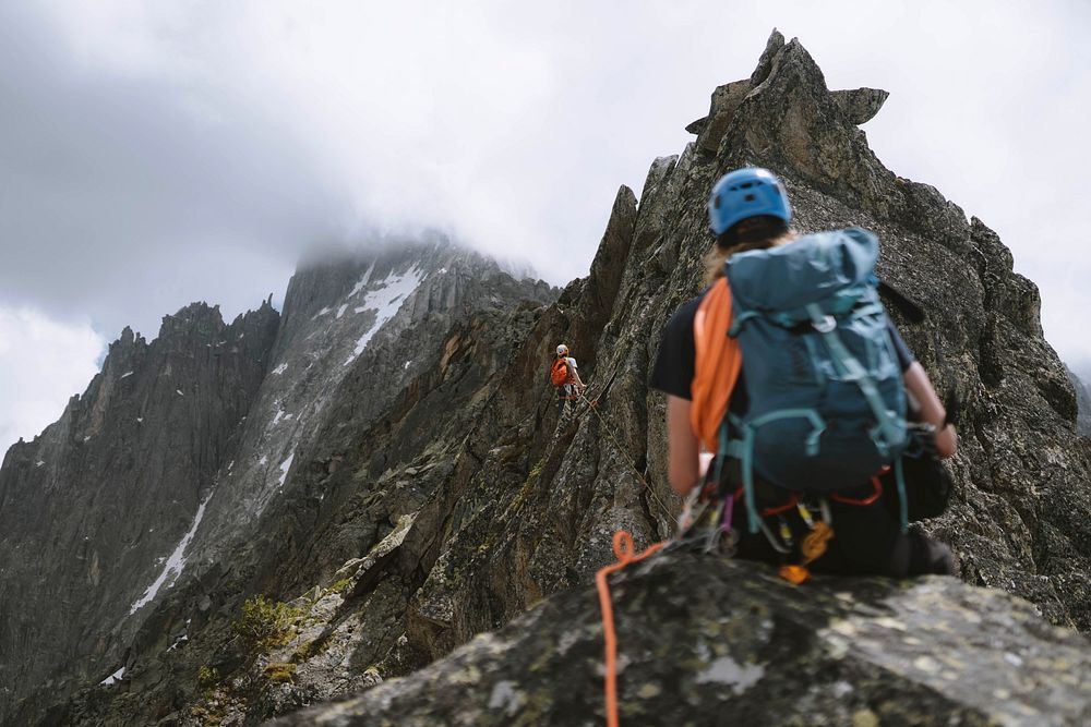
{"type": "Polygon", "coordinates": [[[8,451],[0,704],[56,688],[62,662],[75,667],[68,679],[105,676],[110,629],[131,635],[130,611],[176,577],[172,552],[236,445],[278,322],[263,305],[225,325],[197,303],[166,316],[151,343],[127,328],[60,421],[8,451]]]}

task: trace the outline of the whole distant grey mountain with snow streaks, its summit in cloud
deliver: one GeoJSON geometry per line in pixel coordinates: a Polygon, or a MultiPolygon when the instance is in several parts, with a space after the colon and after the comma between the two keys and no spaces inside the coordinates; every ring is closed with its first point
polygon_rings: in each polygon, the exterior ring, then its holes
{"type": "MultiPolygon", "coordinates": [[[[140,661],[178,656],[219,608],[235,616],[275,577],[265,569],[310,579],[313,564],[276,556],[291,531],[308,543],[328,529],[351,494],[329,484],[343,455],[328,450],[367,446],[444,386],[435,404],[465,410],[459,385],[496,363],[458,360],[458,336],[555,294],[445,241],[400,240],[303,265],[283,316],[265,303],[225,326],[195,304],[152,343],[127,329],[61,421],[0,470],[0,722],[81,683],[169,679],[140,661]]],[[[406,439],[443,434],[407,424],[406,439]]],[[[382,472],[421,447],[377,449],[382,472]]],[[[383,528],[338,530],[319,549],[327,570],[383,528]]]]}

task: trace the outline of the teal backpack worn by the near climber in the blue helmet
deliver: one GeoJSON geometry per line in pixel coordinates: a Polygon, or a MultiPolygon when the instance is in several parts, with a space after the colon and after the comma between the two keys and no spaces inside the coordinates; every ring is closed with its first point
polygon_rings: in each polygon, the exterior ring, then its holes
{"type": "MultiPolygon", "coordinates": [[[[875,277],[878,240],[849,228],[740,253],[727,263],[745,415],[729,414],[720,452],[741,461],[751,532],[755,472],[780,487],[826,493],[895,469],[907,526],[901,453],[906,390],[875,277]]],[[[717,462],[717,468],[722,461],[717,462]]]]}

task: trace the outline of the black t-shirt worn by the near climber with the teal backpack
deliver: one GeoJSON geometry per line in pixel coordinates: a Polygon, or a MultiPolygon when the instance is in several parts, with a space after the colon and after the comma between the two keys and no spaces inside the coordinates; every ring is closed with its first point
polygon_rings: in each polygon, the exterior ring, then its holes
{"type": "MultiPolygon", "coordinates": [[[[688,303],[684,303],[671,316],[663,334],[663,343],[659,348],[659,359],[656,360],[656,367],[651,372],[651,388],[683,399],[693,399],[693,372],[697,358],[693,340],[693,319],[697,315],[697,308],[704,296],[703,293],[688,303]]],[[[890,341],[894,343],[898,363],[901,371],[904,372],[916,359],[906,346],[906,341],[901,339],[898,329],[894,327],[892,323],[889,323],[889,319],[887,326],[890,329],[890,341]]],[[[746,410],[746,387],[741,386],[741,372],[739,381],[731,395],[731,410],[735,412],[746,410]]]]}

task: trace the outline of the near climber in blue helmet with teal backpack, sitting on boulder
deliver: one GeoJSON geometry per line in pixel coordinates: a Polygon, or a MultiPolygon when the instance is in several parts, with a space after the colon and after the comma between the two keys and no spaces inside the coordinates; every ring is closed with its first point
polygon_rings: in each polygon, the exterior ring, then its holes
{"type": "Polygon", "coordinates": [[[949,572],[946,546],[906,525],[922,488],[949,485],[935,458],[956,434],[879,301],[875,235],[798,235],[758,168],[720,179],[708,211],[709,287],[671,318],[651,379],[668,395],[671,486],[718,500],[724,547],[789,580],[803,566],[949,572]]]}

